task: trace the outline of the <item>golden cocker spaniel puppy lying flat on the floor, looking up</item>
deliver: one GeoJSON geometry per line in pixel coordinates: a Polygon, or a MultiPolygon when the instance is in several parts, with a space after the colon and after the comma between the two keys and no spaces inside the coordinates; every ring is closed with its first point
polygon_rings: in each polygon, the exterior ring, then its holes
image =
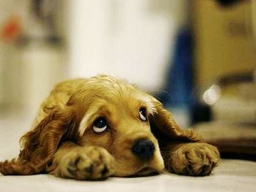
{"type": "Polygon", "coordinates": [[[219,162],[217,148],[179,128],[157,99],[108,75],[56,85],[20,145],[18,158],[0,163],[2,174],[101,180],[166,168],[202,176],[219,162]]]}

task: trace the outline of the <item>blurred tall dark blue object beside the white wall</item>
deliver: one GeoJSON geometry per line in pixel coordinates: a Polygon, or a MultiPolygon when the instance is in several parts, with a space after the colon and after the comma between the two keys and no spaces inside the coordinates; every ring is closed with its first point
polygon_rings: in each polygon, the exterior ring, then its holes
{"type": "Polygon", "coordinates": [[[188,28],[179,31],[173,53],[173,64],[167,74],[165,91],[170,94],[163,99],[170,107],[188,107],[192,100],[192,33],[188,28]]]}

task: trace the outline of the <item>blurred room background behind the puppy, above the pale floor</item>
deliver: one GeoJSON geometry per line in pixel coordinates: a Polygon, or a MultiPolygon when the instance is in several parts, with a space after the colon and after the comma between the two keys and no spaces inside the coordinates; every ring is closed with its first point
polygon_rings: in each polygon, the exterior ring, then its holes
{"type": "Polygon", "coordinates": [[[255,0],[0,0],[0,131],[27,129],[56,82],[108,73],[255,158],[255,34],[255,0]]]}

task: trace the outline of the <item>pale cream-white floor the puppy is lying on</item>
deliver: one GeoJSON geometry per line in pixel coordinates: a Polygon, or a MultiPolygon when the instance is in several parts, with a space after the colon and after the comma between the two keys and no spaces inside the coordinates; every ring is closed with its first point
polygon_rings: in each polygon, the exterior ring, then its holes
{"type": "MultiPolygon", "coordinates": [[[[0,115],[0,161],[18,155],[18,139],[30,128],[31,114],[0,115]]],[[[154,177],[116,178],[105,181],[65,180],[47,174],[4,176],[0,191],[256,191],[256,162],[222,160],[208,177],[159,174],[154,177]]]]}

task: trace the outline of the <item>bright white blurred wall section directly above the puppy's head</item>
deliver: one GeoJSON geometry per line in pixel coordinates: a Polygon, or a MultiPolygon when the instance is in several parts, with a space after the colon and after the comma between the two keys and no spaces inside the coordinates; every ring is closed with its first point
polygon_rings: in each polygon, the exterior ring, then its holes
{"type": "Polygon", "coordinates": [[[148,90],[162,87],[187,0],[67,3],[71,77],[109,73],[148,90]]]}

